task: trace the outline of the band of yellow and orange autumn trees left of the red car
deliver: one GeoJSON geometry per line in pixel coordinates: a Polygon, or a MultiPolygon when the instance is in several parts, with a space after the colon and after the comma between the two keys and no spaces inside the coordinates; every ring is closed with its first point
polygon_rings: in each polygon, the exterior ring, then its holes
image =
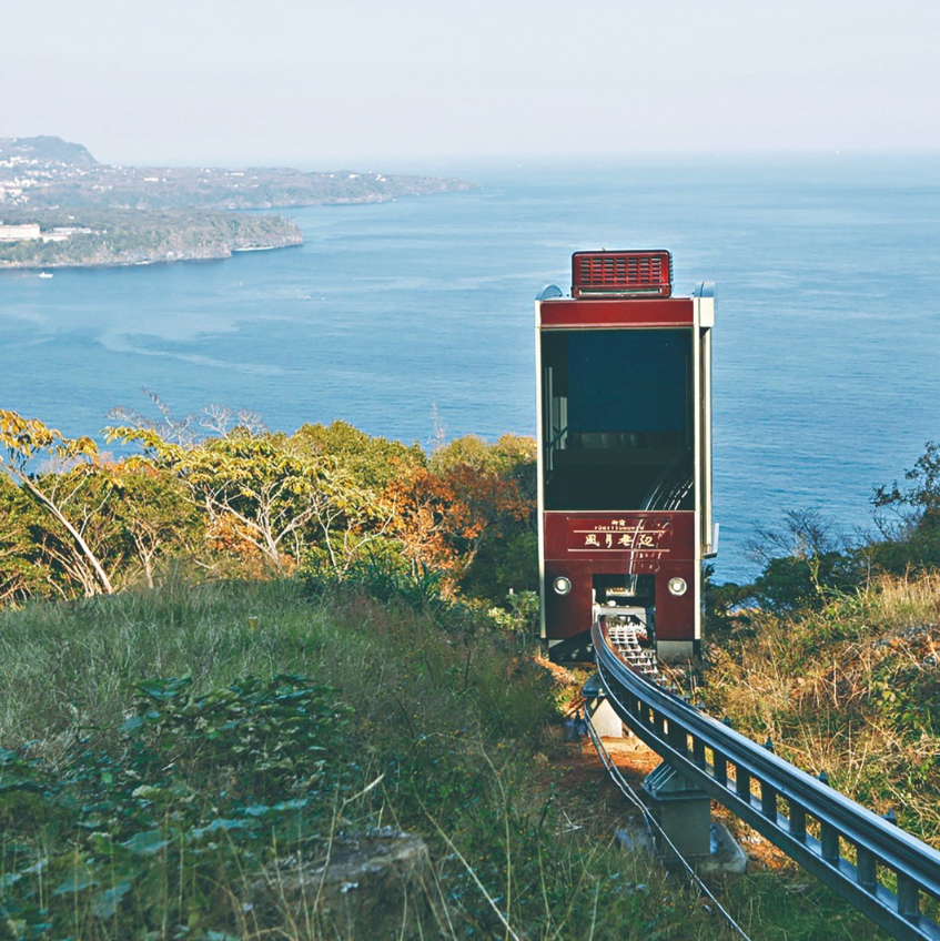
{"type": "Polygon", "coordinates": [[[527,438],[471,436],[428,457],[345,422],[285,435],[232,427],[220,409],[176,419],[154,402],[158,419],[124,411],[131,424],[105,429],[139,448],[120,459],[0,413],[0,601],[152,587],[171,559],[208,577],[303,565],[340,580],[382,560],[496,600],[534,584],[520,561],[535,557],[527,438]]]}

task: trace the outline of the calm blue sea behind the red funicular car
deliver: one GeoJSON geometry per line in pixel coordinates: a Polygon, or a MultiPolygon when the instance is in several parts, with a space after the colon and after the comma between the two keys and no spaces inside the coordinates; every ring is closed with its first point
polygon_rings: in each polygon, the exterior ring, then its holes
{"type": "Polygon", "coordinates": [[[411,169],[482,189],[293,211],[302,247],[224,262],[0,273],[0,406],[87,434],[146,387],[284,431],[534,434],[535,294],[573,251],[666,247],[678,293],[717,284],[719,578],[786,509],[871,528],[940,436],[940,155],[411,169]]]}

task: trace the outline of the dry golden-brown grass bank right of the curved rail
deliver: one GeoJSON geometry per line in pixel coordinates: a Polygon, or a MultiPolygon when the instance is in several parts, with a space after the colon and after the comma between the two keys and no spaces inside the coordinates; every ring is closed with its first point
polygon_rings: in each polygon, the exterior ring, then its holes
{"type": "Polygon", "coordinates": [[[709,709],[940,846],[940,574],[821,611],[749,611],[712,640],[709,709]]]}

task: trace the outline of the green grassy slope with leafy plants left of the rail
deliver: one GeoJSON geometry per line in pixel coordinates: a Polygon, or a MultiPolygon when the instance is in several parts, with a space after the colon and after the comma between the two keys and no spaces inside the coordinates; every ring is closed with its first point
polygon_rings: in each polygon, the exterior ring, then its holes
{"type": "MultiPolygon", "coordinates": [[[[559,787],[532,654],[468,607],[290,580],[0,613],[0,939],[331,939],[251,887],[385,824],[426,839],[446,938],[736,937],[614,847],[603,778],[559,787]]],[[[794,874],[719,889],[769,941],[878,937],[794,874]]]]}

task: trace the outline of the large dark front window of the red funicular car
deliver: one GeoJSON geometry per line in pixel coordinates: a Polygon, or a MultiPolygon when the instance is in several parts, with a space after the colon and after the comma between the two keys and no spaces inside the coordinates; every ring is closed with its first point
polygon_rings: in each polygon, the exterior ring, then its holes
{"type": "Polygon", "coordinates": [[[694,506],[691,332],[545,331],[548,510],[694,506]]]}

